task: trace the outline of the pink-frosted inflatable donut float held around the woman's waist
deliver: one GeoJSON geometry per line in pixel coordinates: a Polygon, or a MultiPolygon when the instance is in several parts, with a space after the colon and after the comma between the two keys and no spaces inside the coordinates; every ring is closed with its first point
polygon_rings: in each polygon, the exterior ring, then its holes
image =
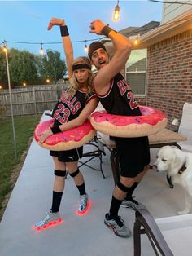
{"type": "MultiPolygon", "coordinates": [[[[50,125],[53,123],[54,118],[48,121],[42,121],[37,125],[34,132],[34,138],[37,143],[39,142],[41,133],[44,130],[49,129],[50,125]]],[[[47,137],[43,143],[40,143],[40,145],[43,148],[55,151],[79,148],[93,139],[95,132],[96,130],[94,130],[93,126],[90,124],[90,121],[87,119],[81,126],[77,126],[70,130],[64,130],[63,132],[59,132],[55,135],[47,137]]]]}

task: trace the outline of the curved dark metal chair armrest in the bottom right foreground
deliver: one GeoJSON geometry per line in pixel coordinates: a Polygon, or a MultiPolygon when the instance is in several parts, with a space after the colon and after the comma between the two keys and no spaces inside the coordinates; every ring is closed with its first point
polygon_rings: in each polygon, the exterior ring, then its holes
{"type": "Polygon", "coordinates": [[[155,251],[155,255],[173,256],[171,249],[164,240],[162,232],[160,232],[159,227],[155,223],[155,219],[144,205],[138,205],[135,212],[135,223],[133,228],[134,256],[141,256],[142,234],[148,236],[151,246],[155,251]]]}

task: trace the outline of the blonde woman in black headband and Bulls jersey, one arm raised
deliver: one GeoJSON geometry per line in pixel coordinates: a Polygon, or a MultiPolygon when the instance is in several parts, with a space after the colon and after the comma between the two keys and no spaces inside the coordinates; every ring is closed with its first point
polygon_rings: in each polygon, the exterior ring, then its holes
{"type": "MultiPolygon", "coordinates": [[[[59,99],[53,109],[55,118],[54,126],[42,133],[40,143],[48,136],[57,132],[69,130],[80,126],[98,105],[98,99],[92,92],[91,64],[87,57],[79,57],[73,60],[72,42],[69,38],[65,21],[52,18],[48,29],[59,25],[63,38],[63,49],[66,55],[68,77],[70,86],[59,99]]],[[[59,222],[59,207],[63,195],[66,170],[72,176],[80,193],[80,205],[78,213],[83,214],[87,210],[89,197],[85,191],[83,175],[78,169],[78,160],[82,157],[83,147],[68,151],[50,151],[55,164],[55,182],[53,188],[52,206],[46,218],[36,223],[35,227],[41,229],[53,222],[59,222]]]]}

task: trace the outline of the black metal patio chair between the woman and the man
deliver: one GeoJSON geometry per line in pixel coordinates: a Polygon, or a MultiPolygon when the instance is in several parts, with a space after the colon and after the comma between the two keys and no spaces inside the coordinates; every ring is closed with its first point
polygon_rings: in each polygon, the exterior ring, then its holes
{"type": "Polygon", "coordinates": [[[79,161],[79,163],[81,164],[79,166],[79,168],[81,166],[87,166],[87,167],[89,167],[93,170],[101,171],[101,173],[103,175],[103,179],[105,179],[105,175],[103,174],[103,167],[102,167],[102,163],[103,163],[102,157],[103,157],[103,155],[105,156],[106,153],[105,153],[105,150],[104,150],[103,143],[99,140],[98,136],[95,135],[94,139],[92,139],[89,143],[85,144],[84,149],[86,148],[86,145],[91,146],[91,148],[93,148],[93,149],[91,149],[91,151],[89,151],[89,152],[83,153],[82,158],[83,157],[86,157],[86,158],[88,157],[88,159],[85,160],[85,161],[79,161]],[[93,160],[95,157],[99,158],[99,168],[95,168],[94,166],[90,166],[90,165],[87,164],[89,161],[93,160]]]}

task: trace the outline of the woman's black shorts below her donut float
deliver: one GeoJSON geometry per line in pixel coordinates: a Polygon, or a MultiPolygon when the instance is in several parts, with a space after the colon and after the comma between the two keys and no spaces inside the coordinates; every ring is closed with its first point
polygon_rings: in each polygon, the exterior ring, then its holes
{"type": "Polygon", "coordinates": [[[78,161],[82,157],[82,155],[83,155],[83,147],[75,148],[71,150],[65,150],[65,151],[50,150],[50,156],[58,157],[58,160],[63,162],[78,161]]]}

